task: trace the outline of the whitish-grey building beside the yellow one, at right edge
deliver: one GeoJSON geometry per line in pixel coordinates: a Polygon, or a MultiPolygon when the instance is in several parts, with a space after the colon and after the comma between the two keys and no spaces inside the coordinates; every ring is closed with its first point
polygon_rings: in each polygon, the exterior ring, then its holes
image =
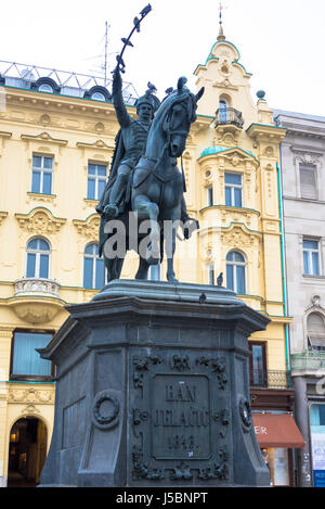
{"type": "MultiPolygon", "coordinates": [[[[325,320],[325,118],[285,111],[275,112],[275,116],[278,124],[287,128],[282,142],[282,182],[287,301],[288,313],[292,316],[289,325],[291,373],[296,386],[296,419],[307,442],[306,448],[297,451],[298,482],[300,486],[310,486],[313,485],[310,406],[325,403],[322,384],[325,357],[322,351],[312,349],[307,325],[311,313],[325,320]],[[314,199],[304,198],[300,186],[301,165],[314,167],[314,199]],[[318,275],[306,273],[306,239],[318,242],[318,275]]],[[[320,341],[325,348],[325,325],[324,338],[320,341]]]]}

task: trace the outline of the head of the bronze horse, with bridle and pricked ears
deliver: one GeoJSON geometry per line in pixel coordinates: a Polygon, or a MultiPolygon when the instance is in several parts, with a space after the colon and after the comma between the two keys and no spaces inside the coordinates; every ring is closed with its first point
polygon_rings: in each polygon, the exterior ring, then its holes
{"type": "Polygon", "coordinates": [[[162,130],[167,137],[171,157],[180,157],[185,149],[191,124],[196,119],[197,101],[204,88],[195,96],[185,87],[186,78],[180,78],[178,89],[172,91],[160,107],[165,111],[162,130]]]}

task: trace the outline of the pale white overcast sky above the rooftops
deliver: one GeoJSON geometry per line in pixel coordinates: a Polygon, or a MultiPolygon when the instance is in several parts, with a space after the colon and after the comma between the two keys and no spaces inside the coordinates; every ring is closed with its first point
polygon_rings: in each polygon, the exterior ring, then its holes
{"type": "MultiPolygon", "coordinates": [[[[212,0],[15,0],[0,10],[0,60],[100,75],[108,26],[109,72],[133,18],[152,12],[125,52],[126,74],[143,94],[157,96],[180,76],[195,91],[193,75],[219,31],[219,1],[212,0]]],[[[224,0],[223,30],[239,50],[251,96],[260,89],[273,109],[325,116],[324,0],[224,0]]]]}

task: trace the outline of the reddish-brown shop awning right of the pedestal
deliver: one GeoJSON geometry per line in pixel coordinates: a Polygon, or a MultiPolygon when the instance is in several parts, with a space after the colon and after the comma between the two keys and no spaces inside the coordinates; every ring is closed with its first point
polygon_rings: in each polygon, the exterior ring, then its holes
{"type": "Polygon", "coordinates": [[[292,416],[288,413],[252,413],[259,446],[303,448],[306,442],[292,416]]]}

